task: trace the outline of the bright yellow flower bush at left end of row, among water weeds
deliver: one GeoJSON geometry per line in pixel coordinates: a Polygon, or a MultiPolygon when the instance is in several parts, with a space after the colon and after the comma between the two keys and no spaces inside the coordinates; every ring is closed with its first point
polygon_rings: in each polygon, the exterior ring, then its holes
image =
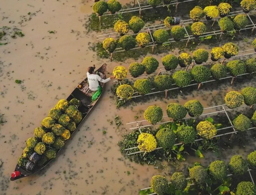
{"type": "Polygon", "coordinates": [[[137,140],[140,151],[152,152],[156,148],[155,137],[150,133],[141,133],[137,140]]]}

